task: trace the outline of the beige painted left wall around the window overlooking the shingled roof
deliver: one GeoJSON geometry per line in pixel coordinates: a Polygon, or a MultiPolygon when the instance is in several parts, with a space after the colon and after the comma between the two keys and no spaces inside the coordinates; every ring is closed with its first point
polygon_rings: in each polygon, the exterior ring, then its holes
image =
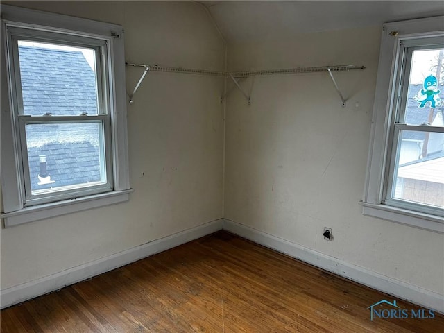
{"type": "MultiPolygon", "coordinates": [[[[225,46],[196,3],[9,4],[121,24],[128,62],[224,68],[225,46]]],[[[142,69],[126,73],[132,91],[142,69]]],[[[223,84],[215,77],[148,74],[128,105],[130,201],[2,229],[1,289],[223,217],[223,84]]]]}

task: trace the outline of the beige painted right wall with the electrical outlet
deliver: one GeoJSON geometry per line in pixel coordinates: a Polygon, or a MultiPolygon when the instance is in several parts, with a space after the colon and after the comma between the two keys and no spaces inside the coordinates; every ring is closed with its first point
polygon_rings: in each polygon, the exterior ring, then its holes
{"type": "Polygon", "coordinates": [[[444,295],[444,235],[361,214],[381,28],[233,44],[228,67],[365,65],[328,74],[250,78],[230,95],[225,218],[444,295]],[[334,241],[323,240],[323,228],[334,241]]]}

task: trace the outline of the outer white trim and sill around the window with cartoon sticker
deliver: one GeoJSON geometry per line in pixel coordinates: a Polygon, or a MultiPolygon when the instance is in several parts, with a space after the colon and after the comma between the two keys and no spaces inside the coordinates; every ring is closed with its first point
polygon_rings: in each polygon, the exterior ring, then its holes
{"type": "Polygon", "coordinates": [[[444,17],[429,17],[384,24],[373,105],[366,184],[361,201],[364,215],[386,219],[417,228],[444,233],[444,218],[383,204],[383,187],[388,163],[388,136],[392,119],[393,72],[398,66],[400,40],[433,37],[444,33],[444,17]],[[395,32],[395,33],[393,33],[395,32]]]}

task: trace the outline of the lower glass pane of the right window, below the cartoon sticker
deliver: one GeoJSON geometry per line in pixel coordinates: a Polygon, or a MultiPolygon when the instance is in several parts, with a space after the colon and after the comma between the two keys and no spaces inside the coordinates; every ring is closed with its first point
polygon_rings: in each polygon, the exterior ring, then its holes
{"type": "Polygon", "coordinates": [[[444,208],[444,133],[406,130],[401,138],[393,198],[444,208]]]}

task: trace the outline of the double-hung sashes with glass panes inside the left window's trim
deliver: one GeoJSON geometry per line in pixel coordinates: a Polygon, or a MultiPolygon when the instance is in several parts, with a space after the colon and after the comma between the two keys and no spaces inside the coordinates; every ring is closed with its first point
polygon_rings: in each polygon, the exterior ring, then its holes
{"type": "Polygon", "coordinates": [[[112,191],[107,54],[105,40],[8,29],[24,206],[112,191]]]}

